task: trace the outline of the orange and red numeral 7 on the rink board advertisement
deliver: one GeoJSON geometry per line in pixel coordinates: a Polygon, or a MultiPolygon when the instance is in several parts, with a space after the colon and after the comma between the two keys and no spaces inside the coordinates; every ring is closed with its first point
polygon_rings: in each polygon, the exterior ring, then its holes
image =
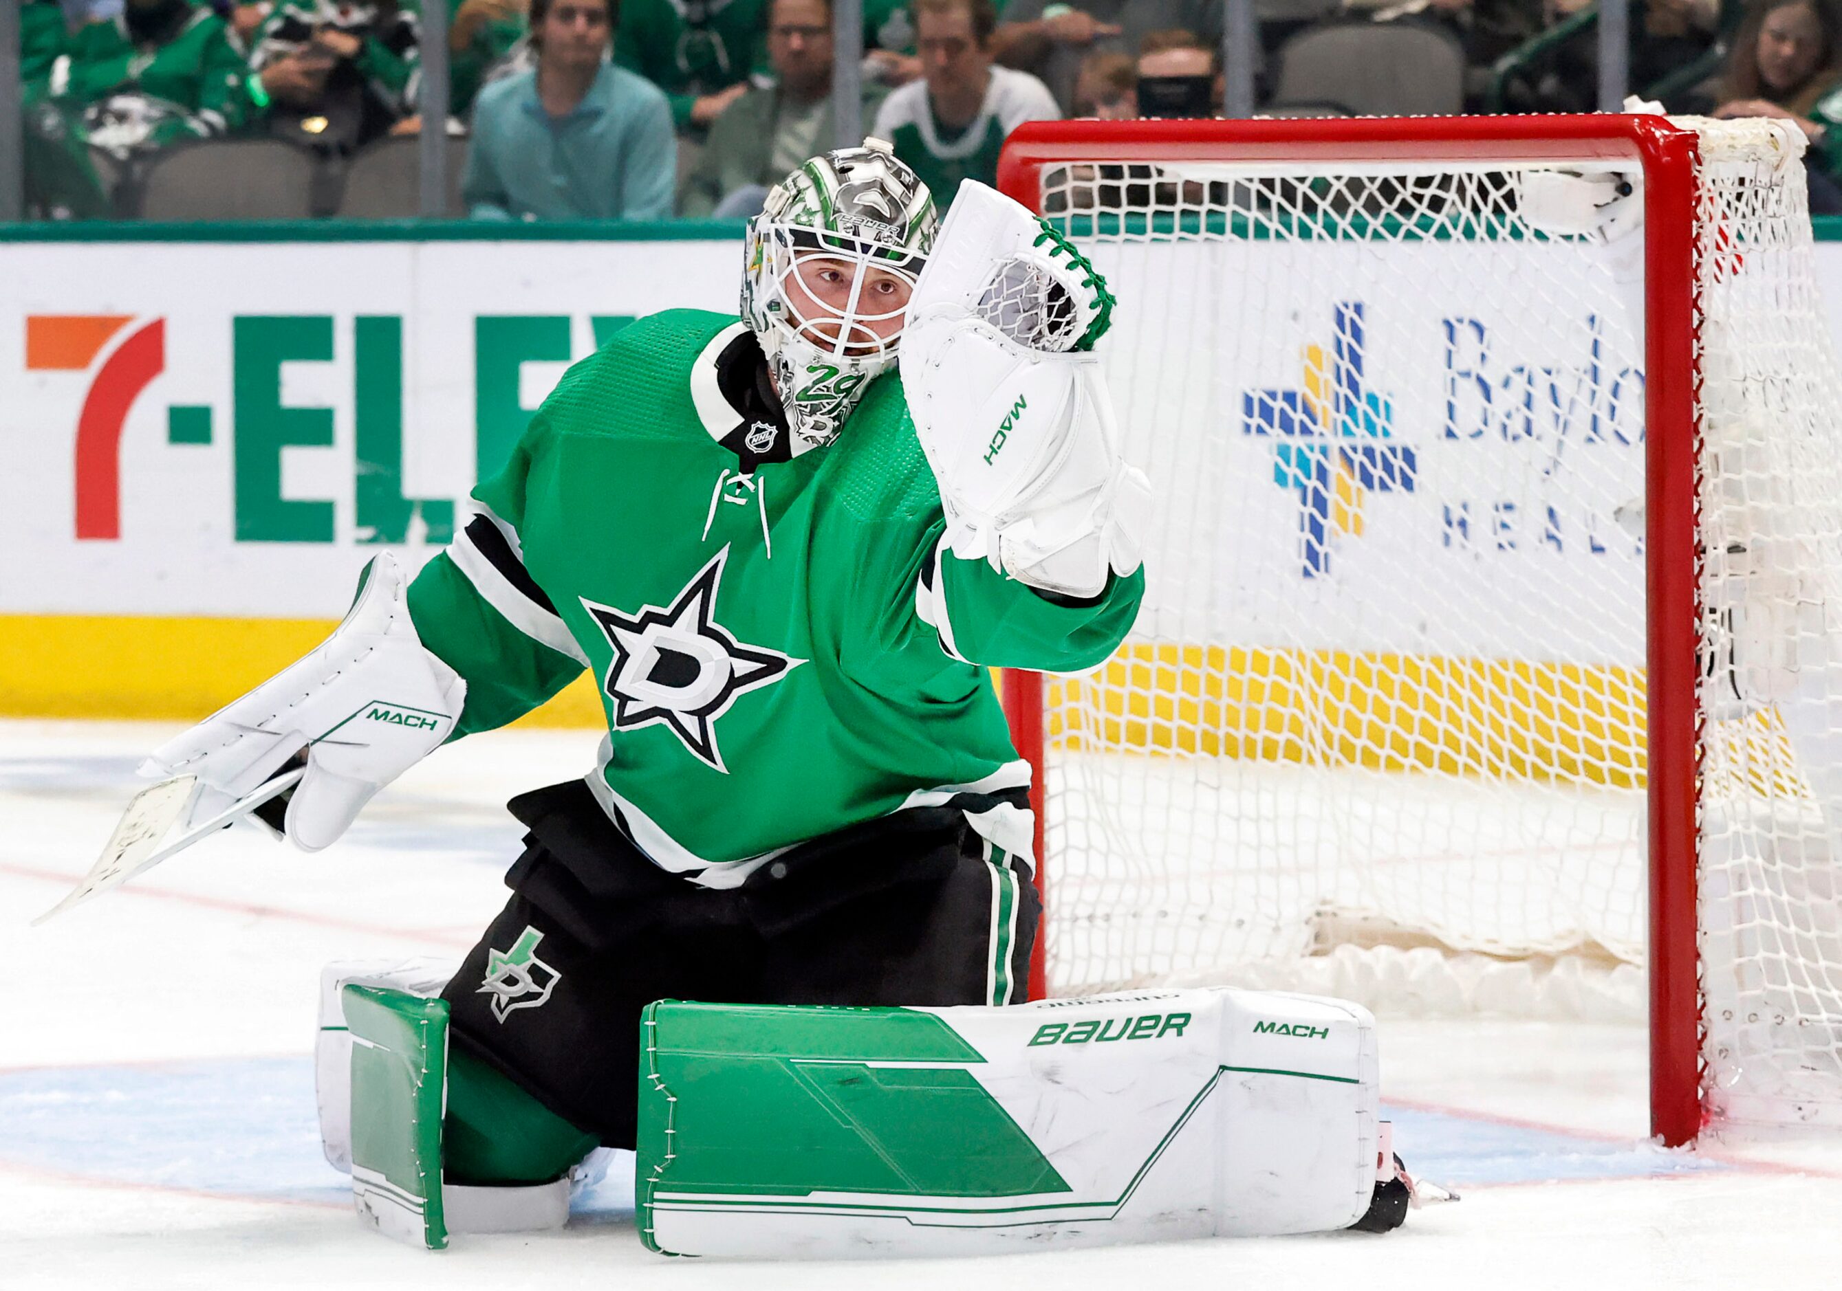
{"type": "Polygon", "coordinates": [[[122,538],[122,427],[166,370],[166,320],[131,315],[28,315],[28,372],[94,372],[77,416],[77,538],[122,538]],[[116,337],[122,337],[116,343],[116,337]],[[112,348],[111,348],[112,346],[112,348]],[[109,350],[99,365],[98,357],[109,350]]]}

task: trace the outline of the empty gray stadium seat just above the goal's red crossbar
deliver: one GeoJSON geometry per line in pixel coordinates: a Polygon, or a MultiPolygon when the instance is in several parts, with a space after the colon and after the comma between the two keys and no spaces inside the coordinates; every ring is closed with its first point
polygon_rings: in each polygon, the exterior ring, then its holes
{"type": "Polygon", "coordinates": [[[1334,22],[1278,50],[1273,103],[1334,103],[1359,116],[1448,116],[1464,109],[1464,50],[1413,22],[1334,22]]]}

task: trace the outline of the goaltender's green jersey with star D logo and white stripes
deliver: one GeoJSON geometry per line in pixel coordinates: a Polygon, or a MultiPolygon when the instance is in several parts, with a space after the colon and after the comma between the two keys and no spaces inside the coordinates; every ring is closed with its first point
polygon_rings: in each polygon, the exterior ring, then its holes
{"type": "Polygon", "coordinates": [[[457,733],[586,667],[608,720],[589,786],[711,888],[923,805],[1028,856],[1030,766],[984,669],[1094,667],[1144,595],[1142,571],[1068,602],[960,560],[899,376],[836,442],[790,442],[755,337],[715,313],[619,331],[473,497],[409,589],[424,645],[468,681],[457,733]]]}

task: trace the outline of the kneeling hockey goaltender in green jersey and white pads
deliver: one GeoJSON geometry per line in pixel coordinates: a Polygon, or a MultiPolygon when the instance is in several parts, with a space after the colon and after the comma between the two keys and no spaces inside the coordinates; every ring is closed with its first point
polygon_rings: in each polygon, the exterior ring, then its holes
{"type": "Polygon", "coordinates": [[[429,1247],[554,1227],[632,1147],[670,1252],[1398,1225],[1359,1007],[1022,1004],[1030,766],[985,669],[1092,669],[1144,595],[1102,276],[980,184],[936,228],[877,140],[788,175],[744,256],[739,319],[578,363],[448,551],[372,560],[319,650],[146,768],[193,777],[192,823],[300,770],[258,814],[315,851],[446,740],[600,681],[599,766],[512,799],[466,960],[328,971],[359,1214],[429,1247]]]}

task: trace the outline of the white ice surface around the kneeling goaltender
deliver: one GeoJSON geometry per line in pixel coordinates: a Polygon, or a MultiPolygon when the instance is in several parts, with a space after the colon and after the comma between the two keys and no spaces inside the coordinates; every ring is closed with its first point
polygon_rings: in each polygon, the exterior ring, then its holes
{"type": "MultiPolygon", "coordinates": [[[[442,1254],[359,1227],[324,1164],[311,1041],[328,960],[459,956],[497,912],[512,794],[580,773],[589,733],[442,750],[341,845],[232,831],[42,926],[157,726],[0,722],[0,1289],[26,1287],[1722,1287],[1842,1285],[1842,1134],[1698,1155],[1643,1142],[1638,1028],[1382,1018],[1407,1164],[1459,1204],[1337,1234],[980,1262],[663,1260],[610,1181],[560,1234],[442,1254]]],[[[628,1181],[630,1184],[630,1181],[628,1181]]]]}

